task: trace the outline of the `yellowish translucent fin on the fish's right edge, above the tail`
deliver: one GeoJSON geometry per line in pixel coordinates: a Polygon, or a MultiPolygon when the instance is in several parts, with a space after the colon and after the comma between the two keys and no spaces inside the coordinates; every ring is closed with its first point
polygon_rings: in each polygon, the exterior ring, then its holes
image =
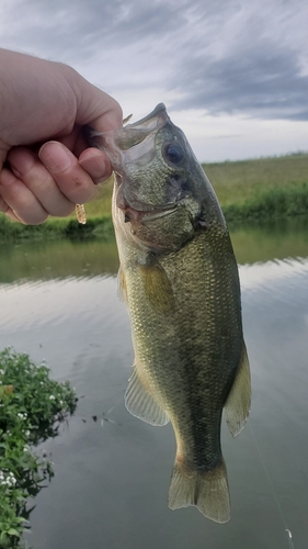
{"type": "Polygon", "coordinates": [[[241,361],[237,376],[225,404],[226,421],[229,430],[236,437],[244,427],[251,403],[250,368],[243,343],[241,361]]]}

